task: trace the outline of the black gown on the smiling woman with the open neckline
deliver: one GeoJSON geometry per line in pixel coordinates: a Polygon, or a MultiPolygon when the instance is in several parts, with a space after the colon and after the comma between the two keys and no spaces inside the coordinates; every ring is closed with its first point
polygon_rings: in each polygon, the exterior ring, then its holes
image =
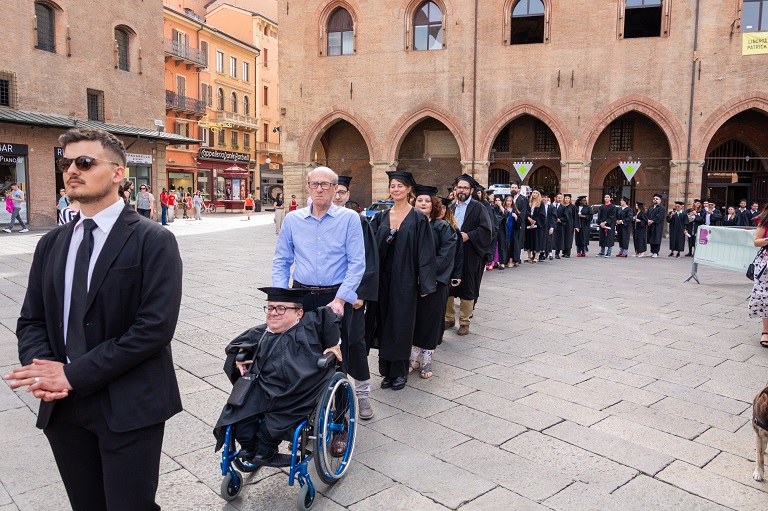
{"type": "Polygon", "coordinates": [[[411,208],[387,243],[390,213],[371,220],[379,247],[379,297],[366,314],[375,314],[370,345],[379,349],[380,359],[393,362],[408,360],[419,295],[435,292],[437,274],[429,219],[411,208]]]}

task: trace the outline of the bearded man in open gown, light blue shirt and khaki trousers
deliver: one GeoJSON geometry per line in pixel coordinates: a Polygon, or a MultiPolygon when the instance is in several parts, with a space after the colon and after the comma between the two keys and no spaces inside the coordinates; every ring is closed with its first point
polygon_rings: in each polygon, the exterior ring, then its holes
{"type": "Polygon", "coordinates": [[[485,206],[472,200],[472,190],[477,188],[477,182],[468,174],[462,174],[456,179],[454,192],[456,202],[451,205],[456,224],[461,231],[464,247],[464,271],[461,284],[451,289],[445,310],[445,328],[451,328],[456,323],[455,296],[461,300],[459,305],[458,335],[469,333],[469,318],[475,306],[475,300],[480,293],[480,280],[485,267],[485,256],[491,245],[491,219],[485,206]]]}

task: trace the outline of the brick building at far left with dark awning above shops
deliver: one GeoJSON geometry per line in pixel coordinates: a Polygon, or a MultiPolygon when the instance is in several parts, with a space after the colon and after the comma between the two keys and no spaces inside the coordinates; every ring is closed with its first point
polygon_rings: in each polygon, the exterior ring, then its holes
{"type": "MultiPolygon", "coordinates": [[[[129,179],[165,183],[166,145],[185,139],[156,125],[164,117],[162,5],[7,2],[0,33],[0,194],[19,182],[33,226],[56,223],[58,136],[74,126],[121,138],[129,179]]],[[[0,208],[0,223],[8,216],[0,208]]]]}

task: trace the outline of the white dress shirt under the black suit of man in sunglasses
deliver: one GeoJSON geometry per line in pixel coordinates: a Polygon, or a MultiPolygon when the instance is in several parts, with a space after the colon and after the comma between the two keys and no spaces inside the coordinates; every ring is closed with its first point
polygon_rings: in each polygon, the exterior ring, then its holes
{"type": "MultiPolygon", "coordinates": [[[[91,252],[91,261],[88,265],[88,287],[91,285],[91,275],[93,274],[93,267],[96,265],[96,260],[101,254],[101,249],[104,248],[104,243],[107,241],[109,231],[112,230],[112,226],[117,222],[117,217],[122,213],[125,207],[125,202],[122,198],[118,197],[116,202],[106,209],[102,209],[96,213],[92,220],[96,222],[96,227],[93,229],[93,252],[91,252]]],[[[67,328],[69,326],[69,307],[72,299],[72,279],[75,276],[75,259],[77,258],[77,249],[80,247],[80,242],[83,241],[83,233],[85,228],[83,227],[83,221],[89,218],[80,212],[80,219],[75,225],[75,231],[72,233],[72,239],[69,242],[69,252],[67,252],[67,266],[64,270],[64,344],[67,343],[67,328]]]]}

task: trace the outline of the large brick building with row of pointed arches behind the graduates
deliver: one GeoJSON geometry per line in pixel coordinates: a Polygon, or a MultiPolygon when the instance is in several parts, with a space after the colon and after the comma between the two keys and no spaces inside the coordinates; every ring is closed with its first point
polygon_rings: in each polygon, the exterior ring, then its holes
{"type": "Polygon", "coordinates": [[[524,184],[592,203],[768,201],[768,55],[745,42],[768,0],[280,0],[279,21],[288,193],[320,164],[363,205],[390,169],[443,189],[530,162],[524,184]]]}

